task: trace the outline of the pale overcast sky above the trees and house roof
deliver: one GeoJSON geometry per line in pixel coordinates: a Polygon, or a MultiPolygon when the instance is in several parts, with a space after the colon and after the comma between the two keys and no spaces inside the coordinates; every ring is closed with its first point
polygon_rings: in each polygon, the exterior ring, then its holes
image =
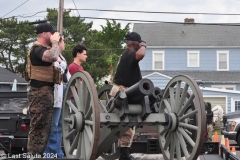
{"type": "MultiPolygon", "coordinates": [[[[76,9],[74,3],[78,9],[240,14],[240,0],[64,0],[64,8],[76,9]]],[[[58,7],[59,0],[0,0],[0,17],[7,18],[18,15],[31,16],[37,12],[43,11],[33,17],[18,17],[18,19],[22,21],[35,21],[36,19],[44,19],[46,16],[46,12],[44,11],[46,11],[47,8],[58,7]],[[19,5],[21,6],[18,7],[19,5]]],[[[194,18],[196,23],[240,23],[240,15],[213,16],[203,14],[149,14],[83,10],[73,11],[71,14],[76,16],[80,14],[81,17],[129,20],[117,20],[117,22],[120,22],[122,26],[125,26],[126,23],[133,24],[134,21],[131,20],[183,22],[185,18],[194,18]]],[[[85,21],[93,21],[94,29],[100,29],[100,25],[106,24],[105,20],[86,18],[85,21]]]]}

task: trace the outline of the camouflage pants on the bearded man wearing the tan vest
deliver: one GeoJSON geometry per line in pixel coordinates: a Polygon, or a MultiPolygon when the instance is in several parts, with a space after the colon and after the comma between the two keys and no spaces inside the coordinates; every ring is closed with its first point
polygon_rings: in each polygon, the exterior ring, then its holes
{"type": "Polygon", "coordinates": [[[53,91],[30,89],[28,92],[31,116],[28,134],[28,154],[43,155],[51,132],[53,91]]]}

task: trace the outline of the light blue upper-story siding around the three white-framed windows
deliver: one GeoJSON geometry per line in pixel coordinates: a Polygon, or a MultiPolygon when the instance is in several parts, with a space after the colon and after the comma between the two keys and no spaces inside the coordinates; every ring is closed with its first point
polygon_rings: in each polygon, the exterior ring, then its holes
{"type": "Polygon", "coordinates": [[[140,61],[140,67],[142,70],[152,70],[153,51],[164,51],[164,69],[165,70],[217,70],[217,51],[229,51],[229,70],[240,70],[240,49],[229,48],[159,48],[159,49],[147,49],[146,56],[140,61]],[[199,51],[200,65],[199,67],[187,67],[187,52],[199,51]]]}

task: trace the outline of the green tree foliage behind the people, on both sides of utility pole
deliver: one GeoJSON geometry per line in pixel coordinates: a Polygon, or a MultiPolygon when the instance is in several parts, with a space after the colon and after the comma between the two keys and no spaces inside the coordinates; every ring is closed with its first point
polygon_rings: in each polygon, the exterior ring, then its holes
{"type": "MultiPolygon", "coordinates": [[[[45,20],[57,28],[58,10],[47,11],[45,20]]],[[[130,24],[122,29],[120,23],[107,20],[106,26],[101,26],[102,31],[97,31],[92,29],[92,22],[86,23],[85,19],[70,13],[70,10],[64,10],[63,13],[63,35],[67,44],[62,54],[68,64],[73,61],[72,48],[83,43],[88,48],[88,58],[82,65],[95,83],[101,84],[108,75],[113,78],[119,56],[124,49],[124,36],[129,32],[130,24]]],[[[36,41],[35,27],[36,25],[28,21],[18,21],[15,18],[0,20],[1,66],[23,75],[28,49],[36,41]]]]}

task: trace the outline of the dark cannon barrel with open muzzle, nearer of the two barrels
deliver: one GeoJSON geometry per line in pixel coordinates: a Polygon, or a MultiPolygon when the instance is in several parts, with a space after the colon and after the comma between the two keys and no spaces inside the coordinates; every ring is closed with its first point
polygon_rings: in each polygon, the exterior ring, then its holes
{"type": "Polygon", "coordinates": [[[139,103],[144,96],[152,94],[154,85],[149,79],[141,79],[138,83],[125,90],[128,103],[139,103]]]}

